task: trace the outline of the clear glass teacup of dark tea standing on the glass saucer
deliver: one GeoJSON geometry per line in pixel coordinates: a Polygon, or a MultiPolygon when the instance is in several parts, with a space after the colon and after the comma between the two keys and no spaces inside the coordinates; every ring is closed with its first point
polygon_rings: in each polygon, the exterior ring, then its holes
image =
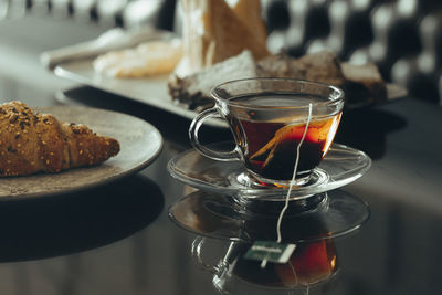
{"type": "Polygon", "coordinates": [[[199,114],[189,135],[193,147],[215,160],[241,160],[261,183],[305,183],[328,151],[344,106],[341,89],[288,78],[249,78],[215,86],[215,106],[199,114]],[[214,151],[198,140],[208,117],[223,117],[236,147],[214,151]],[[298,155],[299,151],[299,155],[298,155]]]}

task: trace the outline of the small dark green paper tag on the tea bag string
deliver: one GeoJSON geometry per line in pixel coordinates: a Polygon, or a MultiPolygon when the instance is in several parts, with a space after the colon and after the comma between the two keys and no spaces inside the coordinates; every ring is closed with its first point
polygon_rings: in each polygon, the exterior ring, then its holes
{"type": "MultiPolygon", "coordinates": [[[[244,254],[244,259],[262,262],[287,263],[296,244],[281,244],[273,241],[256,241],[244,254]]],[[[264,263],[265,265],[265,263],[264,263]]]]}

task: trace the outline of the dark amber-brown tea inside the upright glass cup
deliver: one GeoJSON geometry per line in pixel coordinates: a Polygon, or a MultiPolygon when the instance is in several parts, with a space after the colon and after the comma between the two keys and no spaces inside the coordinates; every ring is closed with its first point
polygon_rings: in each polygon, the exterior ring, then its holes
{"type": "MultiPolygon", "coordinates": [[[[251,97],[238,97],[235,101],[250,101],[251,97]]],[[[280,99],[283,103],[287,96],[253,97],[254,104],[270,104],[280,99]]],[[[290,97],[293,99],[293,96],[290,97]]],[[[307,98],[299,98],[307,99],[307,98]]],[[[315,101],[308,97],[309,101],[315,101]]],[[[305,104],[305,102],[304,102],[305,104]]],[[[306,128],[308,108],[305,116],[277,117],[278,112],[249,112],[249,116],[236,116],[233,119],[233,133],[243,138],[240,148],[244,155],[245,167],[255,175],[271,180],[291,180],[297,157],[297,146],[306,128]],[[266,120],[267,118],[271,118],[266,120]]],[[[307,133],[299,149],[297,176],[308,175],[318,166],[328,150],[339,124],[340,114],[333,116],[314,115],[308,124],[307,133]]],[[[286,115],[286,114],[285,114],[286,115]]],[[[240,140],[241,141],[241,140],[240,140]]]]}

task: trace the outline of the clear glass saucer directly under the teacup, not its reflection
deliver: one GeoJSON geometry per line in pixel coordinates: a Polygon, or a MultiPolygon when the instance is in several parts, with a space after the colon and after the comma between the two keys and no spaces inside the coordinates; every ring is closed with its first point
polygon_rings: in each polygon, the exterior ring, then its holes
{"type": "MultiPolygon", "coordinates": [[[[212,144],[210,148],[230,150],[232,143],[212,144]]],[[[308,198],[348,185],[361,177],[370,166],[371,159],[364,151],[333,144],[319,167],[314,170],[312,181],[293,189],[291,200],[308,198]]],[[[287,194],[287,188],[261,187],[241,181],[244,168],[240,161],[212,160],[194,149],[171,159],[168,171],[173,178],[191,187],[242,199],[284,201],[287,194]]]]}

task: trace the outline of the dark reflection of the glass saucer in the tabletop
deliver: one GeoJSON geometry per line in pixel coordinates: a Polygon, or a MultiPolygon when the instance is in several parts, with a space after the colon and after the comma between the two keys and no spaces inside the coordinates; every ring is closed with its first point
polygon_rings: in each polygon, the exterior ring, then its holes
{"type": "MultiPolygon", "coordinates": [[[[276,241],[278,213],[284,202],[251,201],[198,190],[169,208],[169,218],[198,235],[230,241],[276,241]]],[[[369,207],[341,190],[290,202],[281,224],[283,243],[332,239],[359,229],[370,217],[369,207]]]]}

